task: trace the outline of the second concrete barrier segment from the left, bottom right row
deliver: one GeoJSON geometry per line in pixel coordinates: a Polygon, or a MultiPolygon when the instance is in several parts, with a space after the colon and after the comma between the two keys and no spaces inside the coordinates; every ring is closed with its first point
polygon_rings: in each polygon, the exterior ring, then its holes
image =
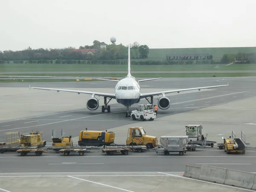
{"type": "Polygon", "coordinates": [[[227,169],[202,165],[199,179],[224,184],[226,174],[227,169]]]}

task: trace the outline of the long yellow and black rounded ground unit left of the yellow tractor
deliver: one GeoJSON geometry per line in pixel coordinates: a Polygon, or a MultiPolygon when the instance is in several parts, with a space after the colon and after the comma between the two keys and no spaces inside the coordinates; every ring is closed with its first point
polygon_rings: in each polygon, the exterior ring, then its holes
{"type": "Polygon", "coordinates": [[[112,131],[80,131],[79,146],[96,146],[110,145],[114,143],[115,133],[112,131]]]}

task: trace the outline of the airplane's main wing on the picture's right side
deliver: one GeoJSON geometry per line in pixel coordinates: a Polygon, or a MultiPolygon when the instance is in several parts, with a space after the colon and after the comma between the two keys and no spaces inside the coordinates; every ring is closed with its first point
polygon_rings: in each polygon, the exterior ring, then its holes
{"type": "Polygon", "coordinates": [[[217,85],[217,86],[209,86],[209,87],[195,87],[195,88],[187,88],[187,89],[176,89],[176,90],[167,90],[167,91],[159,91],[159,92],[152,92],[152,93],[140,93],[141,99],[150,97],[150,96],[158,96],[161,94],[167,94],[167,93],[180,93],[182,91],[189,91],[189,90],[201,90],[201,89],[210,89],[210,88],[217,88],[217,87],[225,87],[228,86],[228,84],[225,85],[217,85]]]}

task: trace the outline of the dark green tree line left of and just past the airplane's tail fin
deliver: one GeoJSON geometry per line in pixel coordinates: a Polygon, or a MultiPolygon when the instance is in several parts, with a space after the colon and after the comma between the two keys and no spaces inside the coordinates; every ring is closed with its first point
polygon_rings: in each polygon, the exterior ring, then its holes
{"type": "MultiPolygon", "coordinates": [[[[83,54],[73,51],[75,47],[67,47],[63,49],[27,49],[21,51],[5,50],[0,51],[0,61],[29,61],[29,60],[116,60],[128,58],[128,46],[122,44],[106,45],[106,49],[100,49],[97,40],[93,41],[93,45],[80,46],[79,49],[97,49],[95,55],[83,54]]],[[[147,58],[149,48],[147,45],[140,45],[138,42],[131,44],[131,58],[147,58]]]]}

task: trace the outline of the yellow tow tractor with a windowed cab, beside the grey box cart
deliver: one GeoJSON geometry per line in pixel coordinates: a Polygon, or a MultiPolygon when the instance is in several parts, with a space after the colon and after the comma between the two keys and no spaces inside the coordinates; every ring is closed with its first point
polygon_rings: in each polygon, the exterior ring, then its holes
{"type": "Polygon", "coordinates": [[[145,145],[154,148],[158,145],[157,137],[148,136],[143,127],[132,127],[128,129],[126,145],[145,145]]]}

